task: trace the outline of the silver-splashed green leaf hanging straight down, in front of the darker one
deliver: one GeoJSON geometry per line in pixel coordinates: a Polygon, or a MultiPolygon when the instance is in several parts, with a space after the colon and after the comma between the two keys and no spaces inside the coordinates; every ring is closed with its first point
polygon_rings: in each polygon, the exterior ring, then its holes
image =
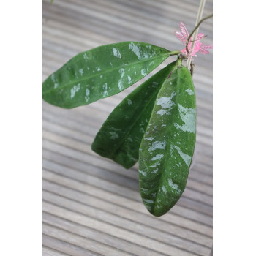
{"type": "Polygon", "coordinates": [[[140,145],[140,195],[151,214],[172,208],[186,187],[195,148],[195,89],[189,70],[176,67],[157,95],[140,145]]]}

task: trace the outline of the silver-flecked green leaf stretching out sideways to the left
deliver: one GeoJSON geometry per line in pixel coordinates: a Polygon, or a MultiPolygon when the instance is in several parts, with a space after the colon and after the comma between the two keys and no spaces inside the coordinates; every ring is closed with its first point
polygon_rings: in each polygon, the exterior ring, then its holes
{"type": "Polygon", "coordinates": [[[123,91],[167,57],[170,51],[146,42],[119,42],[79,53],[42,84],[42,98],[75,108],[123,91]]]}

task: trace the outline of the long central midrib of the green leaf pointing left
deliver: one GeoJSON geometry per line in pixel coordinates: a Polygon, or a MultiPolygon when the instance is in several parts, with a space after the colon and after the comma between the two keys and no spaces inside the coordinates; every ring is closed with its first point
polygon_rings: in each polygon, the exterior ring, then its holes
{"type": "MultiPolygon", "coordinates": [[[[170,52],[165,53],[165,54],[162,54],[162,55],[155,56],[155,57],[153,57],[153,58],[144,59],[143,61],[134,61],[134,62],[131,62],[131,63],[129,63],[129,64],[122,64],[121,66],[116,67],[116,68],[113,68],[113,69],[108,69],[108,70],[105,70],[105,71],[102,71],[102,72],[97,72],[96,74],[91,75],[91,76],[89,76],[89,77],[82,78],[82,79],[80,79],[80,80],[74,80],[72,83],[66,83],[66,84],[64,84],[63,86],[58,86],[56,89],[54,89],[54,88],[48,89],[47,91],[43,91],[42,94],[48,94],[48,93],[50,93],[51,91],[58,91],[59,89],[63,89],[64,87],[72,86],[74,83],[80,83],[80,82],[82,82],[83,80],[89,80],[89,79],[95,78],[95,77],[97,77],[97,76],[99,76],[99,75],[103,75],[103,74],[105,74],[106,72],[113,72],[113,71],[115,71],[115,70],[117,70],[117,69],[121,69],[122,67],[129,67],[129,66],[132,66],[132,65],[135,65],[135,64],[138,64],[138,63],[143,63],[143,62],[146,62],[146,61],[149,61],[149,60],[152,60],[152,59],[157,59],[157,58],[159,58],[159,57],[161,57],[161,56],[165,56],[165,55],[166,55],[166,58],[165,58],[165,59],[167,59],[167,57],[169,56],[169,53],[170,53],[170,52]]],[[[58,70],[57,70],[56,72],[58,72],[58,70]]],[[[54,72],[54,73],[55,73],[55,72],[54,72]]],[[[54,73],[53,73],[53,74],[54,74],[54,73]]],[[[149,72],[147,73],[147,75],[148,75],[148,74],[149,74],[149,72]]],[[[45,80],[45,82],[46,82],[46,80],[45,80]]],[[[45,83],[45,82],[44,82],[44,83],[45,83]]],[[[132,86],[132,84],[131,84],[131,86],[132,86]]]]}

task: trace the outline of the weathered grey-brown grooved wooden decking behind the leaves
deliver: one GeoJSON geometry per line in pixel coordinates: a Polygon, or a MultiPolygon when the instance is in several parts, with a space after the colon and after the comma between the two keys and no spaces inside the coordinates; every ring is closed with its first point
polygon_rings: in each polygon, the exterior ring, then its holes
{"type": "MultiPolygon", "coordinates": [[[[192,31],[200,1],[49,2],[43,0],[44,79],[75,54],[108,43],[134,40],[181,50],[173,32],[181,20],[192,31]]],[[[203,16],[211,12],[212,1],[207,1],[203,16]]],[[[212,19],[200,31],[207,35],[204,42],[211,43],[212,19]]],[[[125,170],[90,148],[105,118],[138,83],[72,110],[43,102],[43,255],[210,254],[212,54],[195,58],[194,83],[196,163],[181,199],[159,218],[140,199],[138,165],[125,170]]]]}

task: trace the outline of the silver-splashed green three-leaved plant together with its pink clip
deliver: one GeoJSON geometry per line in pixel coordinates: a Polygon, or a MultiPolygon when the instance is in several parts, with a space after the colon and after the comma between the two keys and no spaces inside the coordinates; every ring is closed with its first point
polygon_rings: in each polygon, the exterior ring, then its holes
{"type": "MultiPolygon", "coordinates": [[[[198,23],[199,26],[199,23],[198,23]]],[[[211,45],[192,39],[183,23],[176,37],[183,50],[146,42],[118,42],[79,53],[42,84],[43,99],[61,108],[88,105],[127,89],[169,56],[176,61],[152,75],[110,113],[91,145],[102,157],[129,169],[139,162],[140,195],[156,217],[184,192],[196,139],[192,75],[184,60],[211,45]]]]}

